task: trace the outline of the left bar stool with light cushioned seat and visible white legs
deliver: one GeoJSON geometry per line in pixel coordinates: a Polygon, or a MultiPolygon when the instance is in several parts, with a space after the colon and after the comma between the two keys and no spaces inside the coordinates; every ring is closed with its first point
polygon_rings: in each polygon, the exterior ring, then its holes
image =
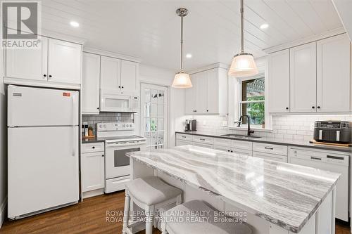
{"type": "Polygon", "coordinates": [[[125,189],[125,212],[123,215],[122,234],[132,234],[130,228],[139,224],[139,222],[129,223],[131,204],[137,204],[138,207],[144,209],[146,214],[146,234],[151,234],[153,224],[155,226],[153,213],[161,207],[172,203],[178,205],[181,202],[182,190],[168,185],[156,176],[137,178],[128,182],[125,189]]]}

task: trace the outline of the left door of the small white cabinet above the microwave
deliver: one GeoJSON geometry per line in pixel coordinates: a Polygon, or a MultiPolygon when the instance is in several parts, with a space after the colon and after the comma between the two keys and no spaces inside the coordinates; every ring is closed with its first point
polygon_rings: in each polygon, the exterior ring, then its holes
{"type": "Polygon", "coordinates": [[[121,89],[121,60],[101,56],[101,89],[121,89]]]}

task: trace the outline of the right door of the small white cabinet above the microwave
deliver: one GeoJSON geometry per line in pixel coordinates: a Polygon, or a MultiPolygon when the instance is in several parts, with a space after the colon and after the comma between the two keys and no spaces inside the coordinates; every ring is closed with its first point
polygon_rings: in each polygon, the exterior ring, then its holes
{"type": "Polygon", "coordinates": [[[136,91],[138,63],[121,60],[121,91],[136,91]]]}

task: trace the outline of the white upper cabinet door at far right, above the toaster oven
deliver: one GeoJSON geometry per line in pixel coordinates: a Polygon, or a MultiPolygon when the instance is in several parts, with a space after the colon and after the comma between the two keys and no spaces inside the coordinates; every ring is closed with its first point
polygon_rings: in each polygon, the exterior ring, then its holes
{"type": "Polygon", "coordinates": [[[317,110],[350,108],[350,41],[346,34],[317,42],[317,110]]]}

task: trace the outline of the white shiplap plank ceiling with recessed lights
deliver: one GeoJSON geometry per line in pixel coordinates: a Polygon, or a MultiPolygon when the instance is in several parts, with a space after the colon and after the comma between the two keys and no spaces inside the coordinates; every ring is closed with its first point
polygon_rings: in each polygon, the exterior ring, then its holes
{"type": "MultiPolygon", "coordinates": [[[[331,0],[245,0],[245,45],[255,57],[263,48],[342,27],[331,0]],[[268,23],[266,30],[260,25],[268,23]]],[[[239,0],[43,0],[42,27],[87,39],[87,46],[136,56],[142,63],[180,67],[179,7],[184,18],[187,70],[230,64],[239,51],[239,0]],[[70,21],[80,23],[73,28],[70,21]]]]}

